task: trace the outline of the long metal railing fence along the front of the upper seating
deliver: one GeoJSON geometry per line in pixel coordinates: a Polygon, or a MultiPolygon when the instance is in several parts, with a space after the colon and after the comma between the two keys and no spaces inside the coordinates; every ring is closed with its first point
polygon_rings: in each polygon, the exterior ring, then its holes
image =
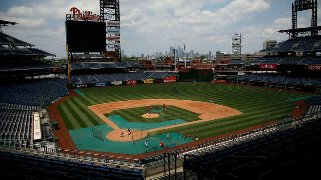
{"type": "MultiPolygon", "coordinates": [[[[176,155],[178,157],[183,156],[185,154],[190,153],[196,153],[199,151],[205,151],[207,149],[218,147],[219,145],[224,144],[230,144],[232,142],[235,142],[237,140],[241,140],[244,138],[249,138],[258,134],[263,134],[268,131],[277,130],[279,128],[283,127],[289,127],[293,124],[299,124],[300,121],[305,120],[312,120],[312,119],[318,119],[319,115],[321,115],[320,112],[312,113],[312,114],[306,114],[302,115],[299,118],[296,119],[289,119],[282,122],[274,123],[253,131],[247,131],[245,133],[241,134],[235,134],[230,135],[227,137],[223,137],[220,139],[216,139],[209,142],[199,143],[198,145],[194,147],[187,147],[182,148],[173,152],[176,152],[176,155]]],[[[320,116],[321,117],[321,116],[320,116]]],[[[73,158],[83,158],[88,160],[95,160],[95,161],[101,161],[101,162],[110,162],[110,163],[117,163],[117,164],[125,164],[130,166],[137,166],[141,167],[142,165],[145,165],[145,167],[152,166],[155,164],[160,164],[164,162],[164,154],[159,154],[157,156],[145,158],[145,159],[134,159],[134,158],[126,158],[126,157],[117,157],[117,156],[110,156],[107,154],[96,154],[96,153],[89,153],[89,152],[83,152],[83,151],[75,151],[75,150],[67,150],[67,149],[58,149],[58,148],[51,148],[47,146],[34,146],[30,144],[21,144],[16,143],[14,141],[9,142],[8,140],[6,142],[0,141],[0,146],[5,148],[11,148],[16,150],[22,150],[22,151],[36,151],[36,152],[42,152],[47,154],[55,154],[55,155],[61,155],[61,156],[68,156],[73,158]]],[[[171,157],[170,159],[174,159],[174,157],[171,157]]]]}

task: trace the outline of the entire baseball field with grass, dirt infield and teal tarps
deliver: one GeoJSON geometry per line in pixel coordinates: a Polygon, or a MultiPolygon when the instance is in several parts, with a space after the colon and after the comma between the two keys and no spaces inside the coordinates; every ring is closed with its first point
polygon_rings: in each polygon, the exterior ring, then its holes
{"type": "MultiPolygon", "coordinates": [[[[150,130],[143,132],[142,136],[148,137],[151,147],[158,145],[163,138],[168,144],[184,146],[184,143],[195,141],[194,135],[200,141],[259,126],[262,123],[261,117],[267,115],[270,123],[275,122],[295,109],[296,105],[287,100],[308,96],[275,89],[183,82],[78,90],[82,95],[70,90],[74,97],[56,106],[64,123],[60,125],[61,129],[64,131],[66,128],[69,135],[60,130],[55,133],[71,137],[74,143],[74,146],[65,145],[63,148],[131,155],[147,150],[143,145],[145,139],[135,144],[129,142],[133,136],[127,134],[127,128],[135,132],[149,127],[150,130]],[[172,89],[179,89],[179,95],[172,94],[172,89]],[[215,103],[210,102],[210,98],[214,98],[215,103]],[[168,106],[167,110],[164,110],[163,103],[168,106]],[[146,114],[145,105],[155,104],[158,105],[158,111],[153,109],[153,117],[150,118],[146,114]],[[92,126],[103,130],[106,143],[97,143],[99,140],[91,137],[92,126]],[[124,137],[119,136],[121,132],[125,133],[124,137]],[[166,141],[167,134],[172,136],[169,142],[166,141]],[[191,137],[183,139],[182,136],[187,134],[191,137]]],[[[54,111],[51,115],[54,118],[58,116],[54,111]]]]}

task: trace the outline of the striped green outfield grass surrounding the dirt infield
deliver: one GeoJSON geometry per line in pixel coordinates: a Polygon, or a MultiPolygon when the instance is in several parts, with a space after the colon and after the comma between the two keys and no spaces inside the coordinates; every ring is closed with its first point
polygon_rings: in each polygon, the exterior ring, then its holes
{"type": "Polygon", "coordinates": [[[57,107],[68,130],[105,124],[87,106],[136,99],[182,99],[209,102],[212,97],[217,104],[243,113],[152,132],[152,135],[159,135],[180,131],[182,134],[198,135],[199,139],[260,125],[261,117],[266,115],[270,115],[270,121],[278,120],[279,116],[284,113],[290,114],[295,108],[293,103],[286,100],[306,96],[306,94],[294,92],[211,83],[142,84],[79,90],[85,95],[70,98],[57,107]],[[173,96],[171,89],[179,89],[180,95],[173,96]]]}

